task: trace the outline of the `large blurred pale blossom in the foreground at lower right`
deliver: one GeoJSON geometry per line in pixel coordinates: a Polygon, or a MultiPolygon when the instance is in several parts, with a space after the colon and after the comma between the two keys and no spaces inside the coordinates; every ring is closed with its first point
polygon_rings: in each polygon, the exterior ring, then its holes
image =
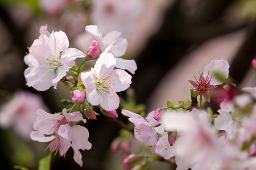
{"type": "Polygon", "coordinates": [[[162,121],[165,130],[179,134],[175,148],[177,169],[210,169],[221,162],[217,131],[204,111],[167,112],[162,121]]]}

